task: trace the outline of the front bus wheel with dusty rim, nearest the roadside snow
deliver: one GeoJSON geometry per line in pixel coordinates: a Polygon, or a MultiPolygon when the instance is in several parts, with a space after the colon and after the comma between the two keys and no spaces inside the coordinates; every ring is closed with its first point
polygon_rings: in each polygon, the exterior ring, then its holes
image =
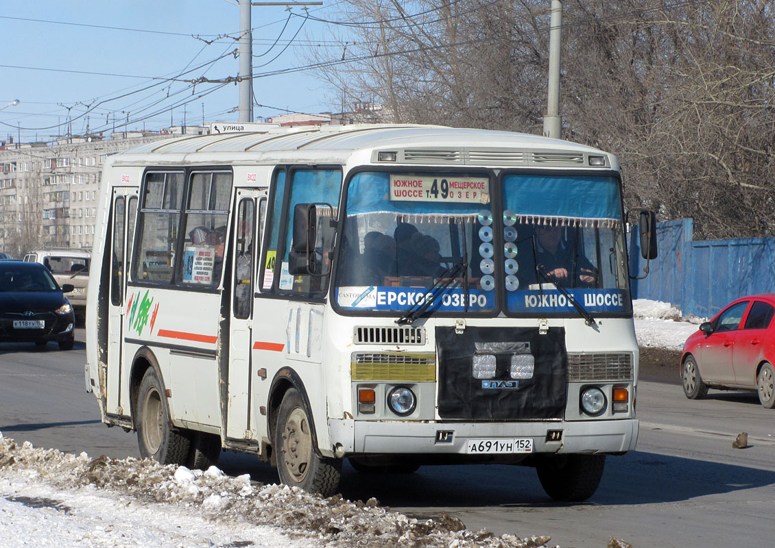
{"type": "Polygon", "coordinates": [[[320,457],[313,445],[310,413],[298,391],[289,389],[274,429],[277,473],[285,485],[329,497],[339,487],[342,460],[320,457]]]}

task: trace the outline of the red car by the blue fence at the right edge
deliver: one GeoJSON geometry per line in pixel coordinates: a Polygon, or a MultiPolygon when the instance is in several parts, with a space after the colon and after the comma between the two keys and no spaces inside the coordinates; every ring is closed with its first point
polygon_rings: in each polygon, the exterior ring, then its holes
{"type": "Polygon", "coordinates": [[[775,407],[775,294],[735,300],[687,338],[680,372],[687,398],[708,388],[756,390],[775,407]]]}

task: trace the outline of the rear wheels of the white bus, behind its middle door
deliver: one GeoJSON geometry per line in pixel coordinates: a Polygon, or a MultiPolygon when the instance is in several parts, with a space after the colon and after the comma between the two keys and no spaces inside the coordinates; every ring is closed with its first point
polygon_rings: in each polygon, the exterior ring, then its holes
{"type": "Polygon", "coordinates": [[[164,389],[149,368],[140,382],[137,394],[137,443],[140,456],[160,464],[187,464],[191,439],[170,421],[170,411],[164,399],[164,389]]]}

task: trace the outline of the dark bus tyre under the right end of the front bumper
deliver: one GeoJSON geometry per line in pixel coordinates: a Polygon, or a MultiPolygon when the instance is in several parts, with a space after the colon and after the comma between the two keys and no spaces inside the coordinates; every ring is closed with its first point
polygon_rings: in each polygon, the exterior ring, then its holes
{"type": "Polygon", "coordinates": [[[536,464],[546,495],[557,501],[580,502],[598,490],[605,455],[562,454],[542,457],[536,464]]]}

